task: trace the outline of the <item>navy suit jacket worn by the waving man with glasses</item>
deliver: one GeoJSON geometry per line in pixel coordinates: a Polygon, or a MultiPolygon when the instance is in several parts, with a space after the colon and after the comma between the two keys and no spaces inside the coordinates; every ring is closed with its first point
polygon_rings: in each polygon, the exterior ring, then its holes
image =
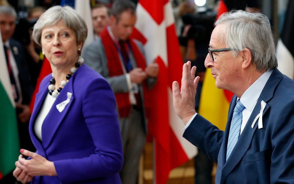
{"type": "Polygon", "coordinates": [[[294,81],[273,70],[226,161],[236,99],[232,98],[224,132],[197,114],[183,134],[217,163],[216,184],[294,183],[294,81]],[[251,128],[262,100],[263,128],[257,128],[258,121],[251,128]]]}

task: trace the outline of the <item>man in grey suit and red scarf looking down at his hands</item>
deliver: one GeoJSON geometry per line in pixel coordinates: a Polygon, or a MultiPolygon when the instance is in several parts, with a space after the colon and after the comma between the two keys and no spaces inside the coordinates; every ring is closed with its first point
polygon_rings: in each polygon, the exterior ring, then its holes
{"type": "Polygon", "coordinates": [[[136,23],[133,2],[116,1],[110,22],[100,38],[85,48],[83,57],[86,64],[107,79],[115,93],[124,149],[120,175],[122,183],[132,184],[137,182],[145,145],[148,106],[144,101],[148,102],[146,93],[156,82],[158,65],[146,66],[143,45],[130,39],[136,23]]]}

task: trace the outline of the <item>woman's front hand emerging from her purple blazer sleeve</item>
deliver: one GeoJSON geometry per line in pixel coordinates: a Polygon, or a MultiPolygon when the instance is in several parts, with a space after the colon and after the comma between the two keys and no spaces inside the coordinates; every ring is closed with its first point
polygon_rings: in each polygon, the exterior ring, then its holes
{"type": "Polygon", "coordinates": [[[37,153],[25,149],[21,149],[21,153],[32,159],[26,160],[19,157],[15,165],[30,176],[57,176],[53,162],[48,161],[37,153]]]}

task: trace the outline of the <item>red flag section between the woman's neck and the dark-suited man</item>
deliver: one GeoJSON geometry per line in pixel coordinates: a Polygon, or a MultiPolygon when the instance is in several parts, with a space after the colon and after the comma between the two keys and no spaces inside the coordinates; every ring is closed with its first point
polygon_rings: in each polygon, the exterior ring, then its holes
{"type": "Polygon", "coordinates": [[[48,59],[45,57],[44,60],[43,60],[43,64],[42,64],[42,68],[41,68],[41,71],[40,71],[39,77],[38,77],[38,79],[37,79],[37,84],[36,84],[36,87],[35,87],[34,93],[33,93],[33,95],[32,95],[32,99],[31,99],[31,102],[30,102],[30,110],[31,110],[31,113],[32,113],[33,108],[34,108],[35,98],[36,98],[36,94],[37,94],[38,91],[39,91],[40,83],[41,83],[41,81],[44,79],[44,77],[46,77],[46,76],[47,76],[48,74],[50,74],[51,72],[52,72],[52,70],[51,70],[50,63],[49,63],[48,59]]]}

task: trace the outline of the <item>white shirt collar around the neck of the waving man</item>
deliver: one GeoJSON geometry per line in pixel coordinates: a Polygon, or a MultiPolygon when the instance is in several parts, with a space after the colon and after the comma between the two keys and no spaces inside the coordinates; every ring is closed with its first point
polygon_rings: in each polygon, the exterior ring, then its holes
{"type": "Polygon", "coordinates": [[[252,111],[254,104],[257,102],[264,86],[266,85],[269,76],[272,74],[273,70],[264,72],[241,96],[237,98],[237,101],[240,99],[244,107],[252,111]]]}

